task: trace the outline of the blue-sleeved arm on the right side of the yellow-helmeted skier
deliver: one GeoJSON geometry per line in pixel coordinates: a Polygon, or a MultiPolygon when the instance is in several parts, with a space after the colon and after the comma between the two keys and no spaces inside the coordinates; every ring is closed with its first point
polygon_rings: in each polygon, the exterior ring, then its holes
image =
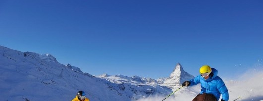
{"type": "Polygon", "coordinates": [[[222,99],[225,101],[228,101],[229,100],[229,94],[228,94],[228,90],[227,90],[226,85],[223,82],[223,80],[219,80],[219,82],[217,83],[217,89],[222,94],[222,99]]]}

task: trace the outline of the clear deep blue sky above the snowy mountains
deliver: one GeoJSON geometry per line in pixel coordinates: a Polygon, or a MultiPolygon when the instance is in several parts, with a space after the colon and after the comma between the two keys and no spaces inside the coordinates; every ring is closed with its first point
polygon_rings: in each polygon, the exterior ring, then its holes
{"type": "Polygon", "coordinates": [[[263,0],[0,0],[0,45],[96,76],[226,77],[263,59],[263,0]]]}

